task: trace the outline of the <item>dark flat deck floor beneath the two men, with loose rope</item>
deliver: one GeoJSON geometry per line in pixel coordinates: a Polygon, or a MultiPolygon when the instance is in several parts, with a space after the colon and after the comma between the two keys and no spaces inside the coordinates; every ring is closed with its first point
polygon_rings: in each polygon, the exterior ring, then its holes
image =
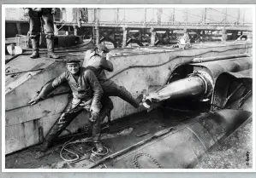
{"type": "MultiPolygon", "coordinates": [[[[179,124],[181,126],[182,121],[199,115],[199,112],[173,112],[170,116],[166,117],[166,112],[164,110],[140,112],[114,121],[110,124],[109,133],[103,133],[102,135],[104,146],[108,147],[110,153],[118,152],[139,141],[145,140],[161,129],[179,124]]],[[[5,166],[7,169],[76,168],[75,164],[68,164],[68,162],[63,161],[60,157],[60,151],[64,142],[62,141],[52,146],[43,156],[39,152],[39,146],[32,146],[27,150],[7,155],[5,166]]],[[[88,144],[79,144],[80,147],[86,147],[86,145],[88,144]]],[[[79,164],[81,163],[86,166],[86,164],[91,164],[92,161],[85,159],[79,164]]]]}

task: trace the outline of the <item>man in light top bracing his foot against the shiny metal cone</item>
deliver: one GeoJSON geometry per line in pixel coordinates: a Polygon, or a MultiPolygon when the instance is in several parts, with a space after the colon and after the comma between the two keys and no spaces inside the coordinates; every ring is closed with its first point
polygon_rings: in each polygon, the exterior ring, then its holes
{"type": "Polygon", "coordinates": [[[103,44],[98,44],[93,51],[91,50],[86,53],[83,66],[94,72],[104,90],[104,95],[118,96],[135,108],[138,108],[143,95],[139,95],[138,98],[135,99],[127,89],[106,78],[104,70],[113,72],[113,64],[110,60],[106,59],[106,55],[109,52],[110,50],[103,44]]]}

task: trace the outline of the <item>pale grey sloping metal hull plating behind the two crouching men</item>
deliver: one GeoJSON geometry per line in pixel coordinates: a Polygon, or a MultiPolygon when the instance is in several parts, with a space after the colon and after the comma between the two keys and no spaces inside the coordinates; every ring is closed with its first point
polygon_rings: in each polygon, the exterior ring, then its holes
{"type": "MultiPolygon", "coordinates": [[[[106,72],[107,78],[124,86],[134,97],[140,95],[149,85],[164,85],[170,73],[177,66],[188,63],[194,56],[232,55],[250,52],[251,44],[245,43],[205,43],[194,44],[193,49],[176,50],[168,48],[113,49],[110,60],[114,72],[106,72]]],[[[83,52],[61,53],[63,59],[67,55],[84,58],[83,52]]],[[[39,138],[44,137],[51,125],[63,112],[68,101],[68,88],[60,87],[46,100],[35,106],[27,102],[36,96],[41,87],[52,78],[56,78],[65,70],[63,61],[52,60],[42,55],[37,60],[20,55],[6,64],[6,72],[21,72],[16,75],[6,75],[5,90],[5,153],[19,151],[28,146],[39,144],[39,138]],[[36,70],[36,71],[32,71],[36,70]],[[37,71],[38,70],[38,71],[37,71]],[[24,72],[25,71],[25,72],[24,72]],[[27,72],[28,71],[28,72],[27,72]],[[43,128],[43,135],[39,134],[43,128]]],[[[111,119],[122,118],[142,109],[135,109],[127,102],[111,97],[114,110],[111,119]]],[[[68,126],[75,133],[86,125],[86,113],[80,114],[68,126]]],[[[67,135],[68,132],[63,132],[67,135]]]]}

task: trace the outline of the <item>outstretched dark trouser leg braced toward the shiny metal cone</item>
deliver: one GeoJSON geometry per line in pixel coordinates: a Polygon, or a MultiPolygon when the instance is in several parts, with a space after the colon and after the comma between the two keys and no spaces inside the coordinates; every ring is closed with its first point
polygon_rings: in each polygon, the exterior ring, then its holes
{"type": "Polygon", "coordinates": [[[104,80],[98,81],[104,90],[104,95],[107,96],[118,96],[122,100],[127,101],[129,104],[138,108],[140,106],[140,102],[137,101],[131,93],[122,86],[117,85],[112,80],[104,80]]]}

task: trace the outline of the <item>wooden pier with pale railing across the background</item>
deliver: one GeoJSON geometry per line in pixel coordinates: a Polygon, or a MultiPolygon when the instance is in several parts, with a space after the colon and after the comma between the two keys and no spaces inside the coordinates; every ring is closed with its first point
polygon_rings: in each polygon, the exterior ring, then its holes
{"type": "MultiPolygon", "coordinates": [[[[80,19],[80,9],[59,9],[55,33],[94,38],[95,43],[109,42],[113,48],[127,47],[130,43],[138,46],[176,43],[184,28],[192,43],[236,40],[247,38],[253,31],[249,12],[248,9],[211,8],[196,12],[195,9],[86,9],[85,20],[80,19]]],[[[6,37],[27,35],[28,29],[24,19],[6,20],[6,37]]]]}

